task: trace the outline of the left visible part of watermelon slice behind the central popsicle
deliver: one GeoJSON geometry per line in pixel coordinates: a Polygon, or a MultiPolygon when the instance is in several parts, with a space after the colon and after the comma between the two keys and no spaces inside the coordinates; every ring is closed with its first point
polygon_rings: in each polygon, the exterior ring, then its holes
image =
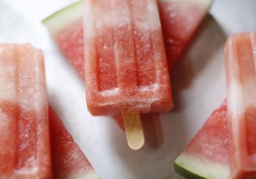
{"type": "Polygon", "coordinates": [[[84,79],[83,1],[53,13],[42,22],[84,79]]]}

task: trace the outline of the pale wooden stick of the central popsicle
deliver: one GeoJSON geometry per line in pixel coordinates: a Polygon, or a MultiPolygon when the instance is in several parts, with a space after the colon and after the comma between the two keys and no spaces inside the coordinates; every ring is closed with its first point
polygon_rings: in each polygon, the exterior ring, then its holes
{"type": "Polygon", "coordinates": [[[122,111],[127,143],[132,150],[140,150],[144,143],[140,112],[122,111]]]}

